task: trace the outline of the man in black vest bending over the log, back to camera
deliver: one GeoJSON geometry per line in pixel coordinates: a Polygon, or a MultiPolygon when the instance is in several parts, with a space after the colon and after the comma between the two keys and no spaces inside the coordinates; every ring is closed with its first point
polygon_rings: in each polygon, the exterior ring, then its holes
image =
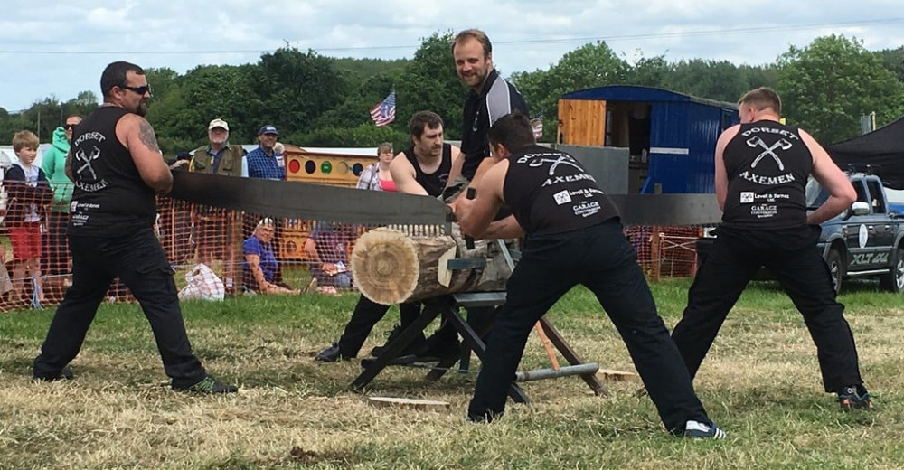
{"type": "Polygon", "coordinates": [[[477,183],[474,200],[450,205],[462,231],[475,238],[526,233],[527,239],[487,340],[467,418],[489,422],[503,413],[533,325],[581,284],[621,334],[665,428],[686,437],[725,437],[697,399],[618,211],[593,176],[571,155],[535,145],[522,114],[499,118],[488,137],[497,163],[477,183]],[[503,203],[513,215],[493,221],[503,203]]]}

